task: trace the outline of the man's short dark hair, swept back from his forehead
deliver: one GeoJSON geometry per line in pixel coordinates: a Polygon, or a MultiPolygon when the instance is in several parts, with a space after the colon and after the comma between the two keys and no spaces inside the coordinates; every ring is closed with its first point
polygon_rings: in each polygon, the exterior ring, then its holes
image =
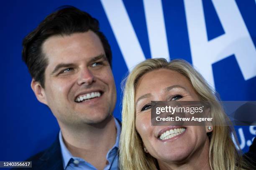
{"type": "Polygon", "coordinates": [[[48,15],[38,27],[23,40],[22,60],[26,63],[31,76],[44,88],[44,72],[48,60],[42,52],[42,44],[54,35],[93,31],[102,42],[111,67],[112,52],[105,35],[100,32],[99,22],[90,14],[72,6],[64,6],[48,15]]]}

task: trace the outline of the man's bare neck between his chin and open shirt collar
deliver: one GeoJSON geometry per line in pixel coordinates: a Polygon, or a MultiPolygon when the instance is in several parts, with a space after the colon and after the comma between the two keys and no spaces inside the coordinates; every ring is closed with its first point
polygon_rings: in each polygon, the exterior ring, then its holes
{"type": "Polygon", "coordinates": [[[117,136],[115,120],[112,116],[99,125],[85,125],[79,129],[61,125],[60,127],[64,144],[74,157],[83,158],[95,168],[104,168],[106,155],[115,145],[117,136]]]}

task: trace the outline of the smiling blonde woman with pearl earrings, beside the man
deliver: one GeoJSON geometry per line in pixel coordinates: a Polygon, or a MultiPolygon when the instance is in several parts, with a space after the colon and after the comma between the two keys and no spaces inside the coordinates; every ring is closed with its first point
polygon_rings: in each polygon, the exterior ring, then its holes
{"type": "Polygon", "coordinates": [[[208,101],[214,106],[210,107],[211,117],[218,125],[225,123],[225,114],[214,91],[189,63],[167,62],[161,58],[143,61],[132,70],[125,84],[121,169],[236,170],[246,167],[231,139],[229,126],[151,126],[151,101],[161,100],[208,101]],[[168,130],[177,134],[163,138],[168,130]]]}

